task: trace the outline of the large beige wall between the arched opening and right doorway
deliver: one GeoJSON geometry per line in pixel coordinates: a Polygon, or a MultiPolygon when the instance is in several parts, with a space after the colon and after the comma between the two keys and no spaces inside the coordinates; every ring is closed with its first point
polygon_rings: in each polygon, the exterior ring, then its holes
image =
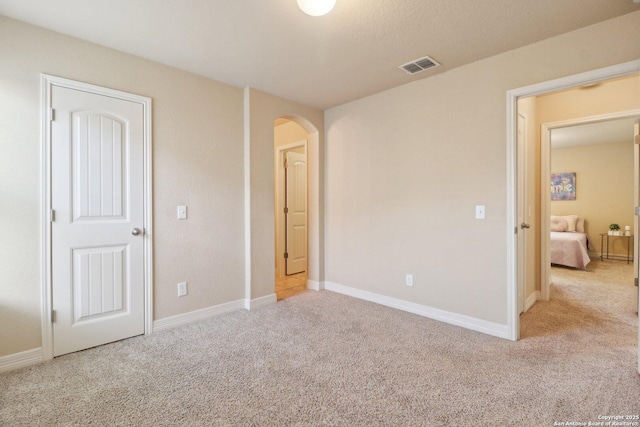
{"type": "Polygon", "coordinates": [[[326,111],[326,280],[506,324],[506,92],[639,39],[636,12],[326,111]]]}

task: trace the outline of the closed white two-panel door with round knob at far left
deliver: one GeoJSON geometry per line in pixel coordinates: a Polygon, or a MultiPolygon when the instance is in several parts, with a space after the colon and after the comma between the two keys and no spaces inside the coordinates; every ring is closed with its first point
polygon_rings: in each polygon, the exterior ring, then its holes
{"type": "Polygon", "coordinates": [[[144,333],[144,112],[53,86],[53,354],[144,333]]]}

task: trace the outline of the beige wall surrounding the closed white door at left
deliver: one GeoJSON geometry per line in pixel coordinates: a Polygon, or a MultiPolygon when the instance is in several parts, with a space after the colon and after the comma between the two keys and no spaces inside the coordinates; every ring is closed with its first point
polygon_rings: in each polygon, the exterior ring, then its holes
{"type": "Polygon", "coordinates": [[[0,17],[0,356],[41,346],[40,73],[153,99],[154,318],[244,298],[242,89],[0,17]]]}

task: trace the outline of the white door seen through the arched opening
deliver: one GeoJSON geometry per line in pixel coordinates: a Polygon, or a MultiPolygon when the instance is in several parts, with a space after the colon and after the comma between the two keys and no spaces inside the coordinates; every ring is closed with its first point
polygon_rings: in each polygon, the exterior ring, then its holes
{"type": "Polygon", "coordinates": [[[307,269],[307,163],[302,153],[285,156],[285,268],[291,275],[307,269]]]}

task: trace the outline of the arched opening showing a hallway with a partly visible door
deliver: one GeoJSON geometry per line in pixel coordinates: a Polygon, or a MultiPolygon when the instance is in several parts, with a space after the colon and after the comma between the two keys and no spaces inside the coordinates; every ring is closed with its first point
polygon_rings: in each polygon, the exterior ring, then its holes
{"type": "Polygon", "coordinates": [[[307,133],[294,121],[285,118],[275,121],[275,293],[278,300],[307,289],[307,142],[307,133]]]}

